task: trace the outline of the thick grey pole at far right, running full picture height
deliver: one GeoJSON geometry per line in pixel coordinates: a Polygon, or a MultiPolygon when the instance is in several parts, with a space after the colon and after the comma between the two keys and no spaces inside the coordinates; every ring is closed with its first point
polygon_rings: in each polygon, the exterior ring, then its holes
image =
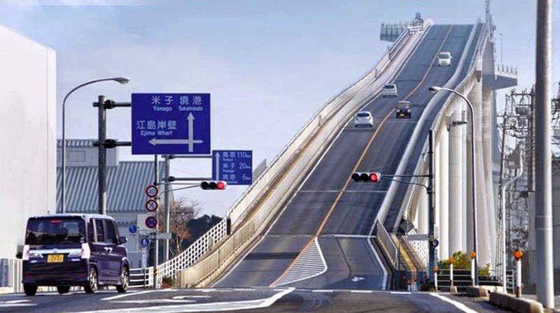
{"type": "Polygon", "coordinates": [[[550,76],[552,0],[537,2],[535,68],[535,252],[537,300],[554,308],[552,268],[552,151],[550,145],[550,76]]]}

